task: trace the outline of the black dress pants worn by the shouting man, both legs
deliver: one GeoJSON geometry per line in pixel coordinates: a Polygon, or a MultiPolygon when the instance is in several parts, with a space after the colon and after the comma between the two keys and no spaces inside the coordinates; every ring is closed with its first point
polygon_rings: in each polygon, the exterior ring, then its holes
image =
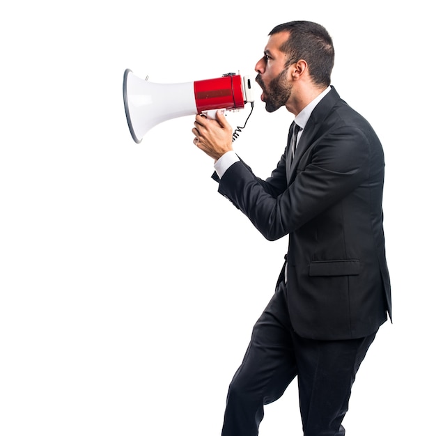
{"type": "Polygon", "coordinates": [[[254,325],[249,347],[228,389],[222,436],[256,436],[263,406],[297,377],[304,436],[342,436],[355,375],[375,333],[315,341],[293,331],[284,283],[254,325]]]}

